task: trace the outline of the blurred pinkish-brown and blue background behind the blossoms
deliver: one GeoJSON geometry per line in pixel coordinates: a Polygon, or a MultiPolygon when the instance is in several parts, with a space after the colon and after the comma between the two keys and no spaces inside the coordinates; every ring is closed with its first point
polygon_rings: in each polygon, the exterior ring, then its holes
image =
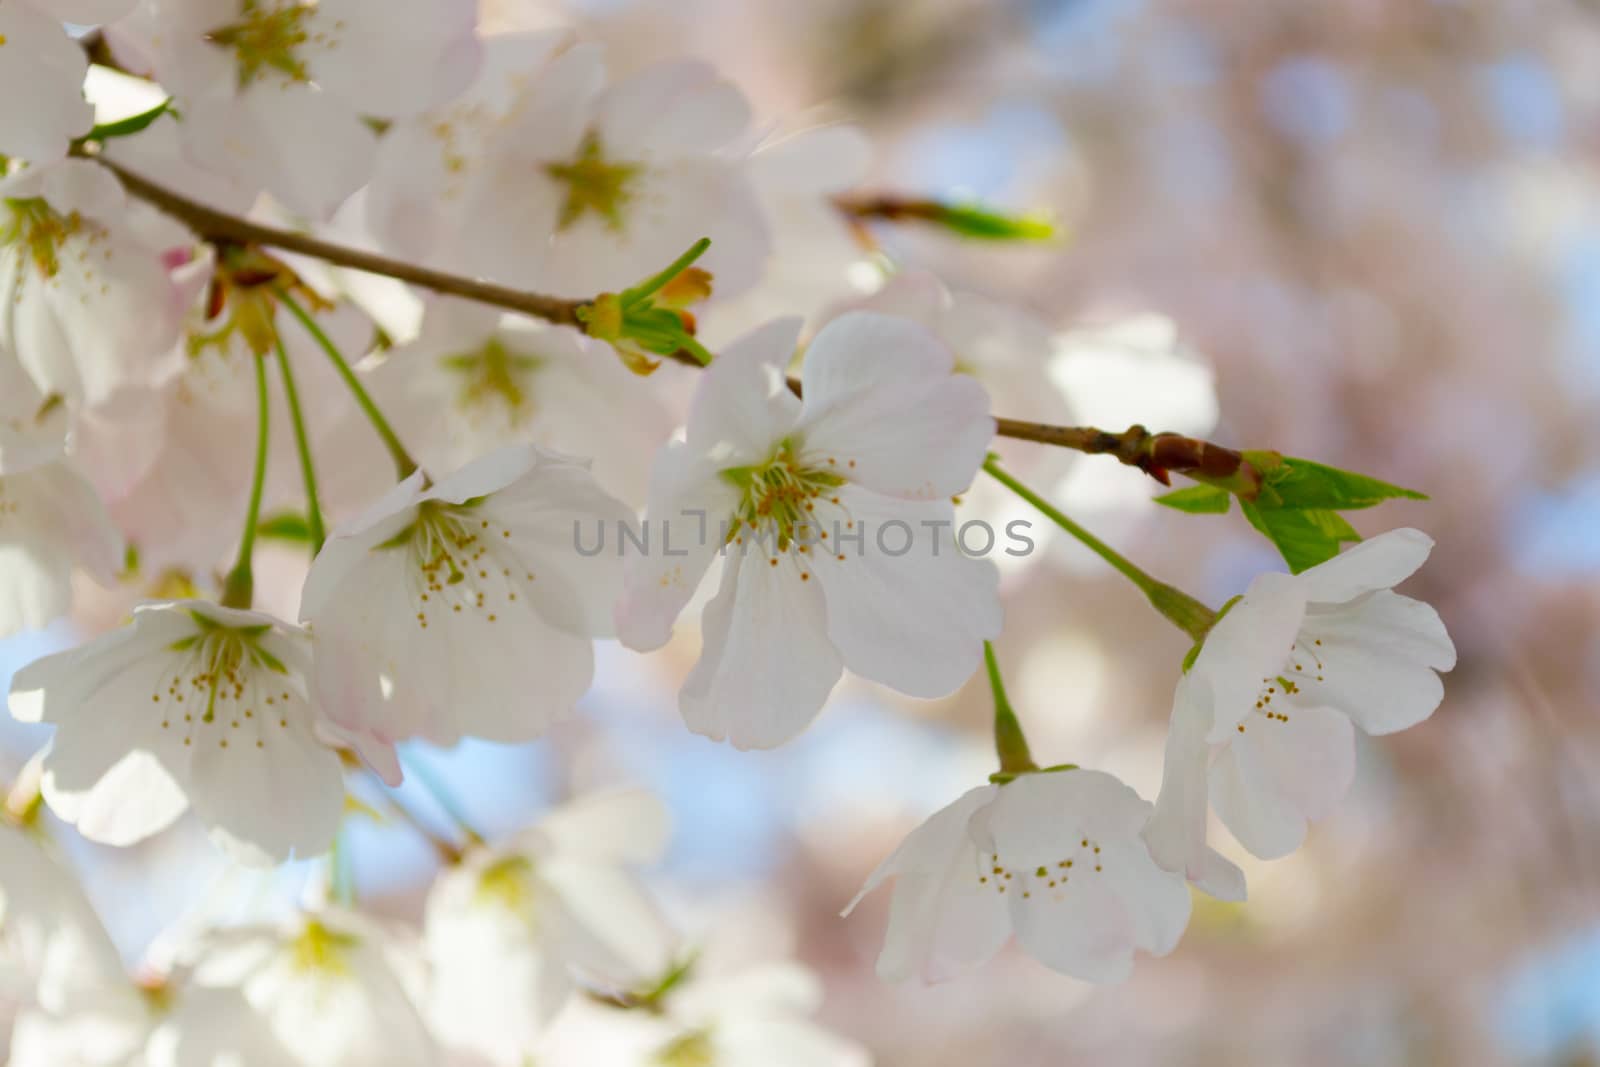
{"type": "MultiPolygon", "coordinates": [[[[584,715],[547,739],[413,753],[474,822],[509,830],[608,782],[659,789],[677,835],[651,880],[691,939],[798,957],[826,981],[824,1021],[885,1067],[1600,1062],[1600,3],[486,0],[486,13],[573,22],[619,69],[706,58],[789,128],[853,122],[875,146],[870,189],[1053,214],[1067,240],[1051,246],[877,237],[898,264],[1056,331],[1165,314],[1211,368],[1214,440],[1432,494],[1352,520],[1437,537],[1405,592],[1440,609],[1461,661],[1432,720],[1362,742],[1350,800],[1304,849],[1246,865],[1246,905],[1198,899],[1179,949],[1112,989],[1014,952],[947,985],[885,987],[872,960],[886,897],[838,918],[906,830],[990,769],[982,678],[938,702],[846,681],[800,741],[739,753],[677,718],[693,625],[651,657],[608,645],[584,715]]],[[[672,374],[642,387],[682,403],[672,374]]],[[[1210,384],[1174,398],[1133,374],[1120,389],[1109,410],[1152,429],[1173,405],[1211,403],[1210,384]]],[[[1168,514],[1138,472],[1038,451],[1008,454],[1211,605],[1278,566],[1237,514],[1168,514]]],[[[1035,752],[1152,797],[1184,638],[1062,545],[1010,568],[1005,593],[998,649],[1035,752]]],[[[72,632],[0,645],[0,673],[72,632]]],[[[6,723],[0,769],[40,741],[6,723]]],[[[408,798],[430,811],[426,792],[408,798]]],[[[240,893],[190,825],[130,851],[64,840],[130,958],[240,893]]],[[[418,913],[424,843],[360,824],[354,862],[365,901],[418,913]]],[[[306,873],[248,893],[290,894],[306,873]]]]}

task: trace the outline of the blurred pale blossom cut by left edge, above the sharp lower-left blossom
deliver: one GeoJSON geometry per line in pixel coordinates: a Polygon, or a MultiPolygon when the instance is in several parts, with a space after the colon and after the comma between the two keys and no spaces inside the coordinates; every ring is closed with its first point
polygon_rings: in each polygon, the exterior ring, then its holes
{"type": "MultiPolygon", "coordinates": [[[[0,357],[0,398],[37,392],[0,357]]],[[[0,637],[43,627],[72,606],[72,571],[104,585],[122,566],[122,534],[94,486],[66,456],[64,413],[0,419],[0,637]]]]}

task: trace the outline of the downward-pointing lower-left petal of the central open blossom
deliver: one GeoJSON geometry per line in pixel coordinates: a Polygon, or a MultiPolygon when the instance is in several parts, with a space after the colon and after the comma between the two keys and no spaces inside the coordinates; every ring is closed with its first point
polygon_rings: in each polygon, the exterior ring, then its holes
{"type": "Polygon", "coordinates": [[[736,749],[774,749],[811,725],[843,667],[816,581],[794,555],[730,550],[706,606],[704,648],[678,707],[690,729],[736,749]]]}

